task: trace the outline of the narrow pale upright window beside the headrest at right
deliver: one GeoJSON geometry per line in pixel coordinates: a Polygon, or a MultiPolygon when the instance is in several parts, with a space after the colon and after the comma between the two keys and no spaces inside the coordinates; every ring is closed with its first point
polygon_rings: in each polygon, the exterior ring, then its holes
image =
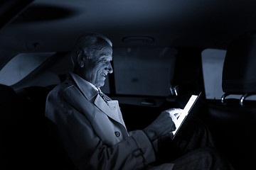
{"type": "Polygon", "coordinates": [[[226,50],[206,49],[202,52],[203,79],[206,98],[220,99],[223,95],[222,72],[226,50]]]}

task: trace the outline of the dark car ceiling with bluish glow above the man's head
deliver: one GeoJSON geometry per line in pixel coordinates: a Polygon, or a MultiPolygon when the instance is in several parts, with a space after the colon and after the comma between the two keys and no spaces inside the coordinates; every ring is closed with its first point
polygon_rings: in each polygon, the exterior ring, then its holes
{"type": "Polygon", "coordinates": [[[1,29],[1,52],[66,51],[85,32],[114,47],[225,48],[254,34],[255,8],[255,0],[35,0],[1,29]]]}

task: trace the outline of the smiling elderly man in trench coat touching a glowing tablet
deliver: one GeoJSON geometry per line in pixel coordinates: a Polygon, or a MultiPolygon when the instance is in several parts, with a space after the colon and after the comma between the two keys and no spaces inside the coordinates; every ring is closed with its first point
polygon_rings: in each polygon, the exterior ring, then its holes
{"type": "Polygon", "coordinates": [[[198,149],[174,162],[152,166],[159,153],[160,137],[169,137],[175,130],[175,115],[181,109],[163,111],[144,130],[127,132],[118,101],[100,91],[107,74],[113,72],[112,42],[98,33],[82,35],[72,61],[74,69],[68,79],[48,94],[46,117],[55,123],[63,149],[78,169],[221,166],[221,160],[211,149],[198,149]]]}

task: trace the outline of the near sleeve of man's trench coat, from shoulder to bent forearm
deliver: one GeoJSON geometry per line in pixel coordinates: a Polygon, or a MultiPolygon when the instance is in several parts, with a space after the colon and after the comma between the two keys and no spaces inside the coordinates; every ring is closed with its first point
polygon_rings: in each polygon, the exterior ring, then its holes
{"type": "Polygon", "coordinates": [[[106,145],[95,134],[90,118],[56,96],[48,95],[46,117],[57,125],[63,148],[78,169],[142,169],[155,161],[154,149],[142,130],[115,145],[106,145]]]}

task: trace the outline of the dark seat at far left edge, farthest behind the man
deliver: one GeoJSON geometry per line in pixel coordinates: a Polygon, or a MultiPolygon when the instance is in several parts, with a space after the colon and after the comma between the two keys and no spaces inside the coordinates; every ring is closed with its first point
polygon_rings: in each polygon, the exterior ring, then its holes
{"type": "MultiPolygon", "coordinates": [[[[0,84],[0,120],[1,120],[1,153],[2,161],[0,169],[14,168],[13,162],[18,156],[20,145],[19,125],[21,115],[18,112],[18,96],[10,86],[0,84]]],[[[17,162],[18,163],[18,162],[17,162]]]]}

